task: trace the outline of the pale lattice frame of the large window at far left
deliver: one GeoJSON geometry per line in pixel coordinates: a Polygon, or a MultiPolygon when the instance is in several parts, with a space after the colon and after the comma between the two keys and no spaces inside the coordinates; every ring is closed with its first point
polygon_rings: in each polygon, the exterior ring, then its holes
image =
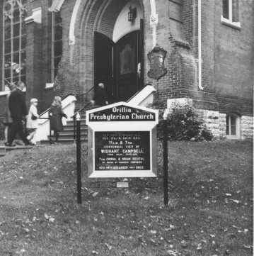
{"type": "MultiPolygon", "coordinates": [[[[23,69],[23,61],[25,61],[25,58],[23,58],[23,55],[25,53],[25,44],[23,44],[23,38],[26,38],[26,33],[24,33],[24,26],[25,26],[25,4],[24,1],[7,1],[4,0],[3,6],[2,6],[2,55],[1,55],[1,63],[2,63],[2,70],[1,70],[1,88],[0,91],[6,90],[6,82],[10,80],[9,83],[15,83],[18,81],[24,81],[25,74],[22,72],[23,69]],[[10,4],[11,9],[6,10],[6,5],[10,4]],[[13,15],[14,12],[18,10],[18,20],[15,20],[15,16],[13,15]],[[9,22],[6,21],[7,17],[10,19],[9,22]],[[18,34],[14,33],[14,26],[18,24],[18,34]],[[6,28],[10,27],[10,37],[6,38],[6,28]],[[18,39],[18,48],[14,51],[14,40],[18,39]],[[8,52],[6,52],[6,44],[10,43],[11,48],[8,52]],[[14,62],[14,55],[18,54],[18,62],[14,62]],[[6,67],[6,57],[10,56],[10,64],[8,67],[6,67]],[[6,77],[6,70],[10,69],[10,77],[6,77]],[[19,72],[16,72],[17,74],[14,74],[14,69],[20,70],[19,72]]],[[[26,13],[25,13],[26,14],[26,13]]],[[[25,65],[25,63],[24,63],[25,65]]],[[[26,78],[25,78],[26,79],[26,78]]]]}

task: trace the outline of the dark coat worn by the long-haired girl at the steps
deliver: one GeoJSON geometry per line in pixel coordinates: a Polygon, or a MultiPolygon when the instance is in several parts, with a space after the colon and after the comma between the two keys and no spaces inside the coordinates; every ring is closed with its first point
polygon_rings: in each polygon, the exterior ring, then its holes
{"type": "Polygon", "coordinates": [[[62,117],[66,117],[67,115],[62,111],[61,106],[51,106],[50,107],[50,129],[54,130],[56,132],[62,131],[63,123],[62,123],[62,117]]]}

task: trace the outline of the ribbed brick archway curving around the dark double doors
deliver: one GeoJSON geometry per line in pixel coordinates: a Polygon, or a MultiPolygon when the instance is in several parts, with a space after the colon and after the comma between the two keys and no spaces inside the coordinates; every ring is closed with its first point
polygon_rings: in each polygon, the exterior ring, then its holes
{"type": "MultiPolygon", "coordinates": [[[[122,8],[129,2],[129,0],[97,0],[87,1],[80,8],[79,29],[76,33],[75,48],[76,57],[75,61],[79,67],[79,77],[81,81],[81,90],[87,91],[93,87],[93,33],[99,32],[112,38],[113,29],[117,16],[122,11],[122,8]]],[[[144,14],[150,12],[150,9],[144,9],[142,0],[139,0],[144,14]],[[149,9],[149,10],[148,10],[149,9]]],[[[144,18],[149,15],[144,15],[144,18]]]]}

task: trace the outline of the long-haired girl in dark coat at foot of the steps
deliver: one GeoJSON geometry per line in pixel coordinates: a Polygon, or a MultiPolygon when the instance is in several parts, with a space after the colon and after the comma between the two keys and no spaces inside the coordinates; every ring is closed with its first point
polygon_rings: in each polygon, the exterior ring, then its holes
{"type": "MultiPolygon", "coordinates": [[[[54,97],[54,101],[50,106],[50,130],[54,131],[55,142],[58,142],[59,132],[62,131],[63,123],[62,117],[67,118],[67,115],[62,110],[62,99],[59,96],[54,97]]],[[[50,138],[50,143],[53,143],[52,138],[50,138]]]]}

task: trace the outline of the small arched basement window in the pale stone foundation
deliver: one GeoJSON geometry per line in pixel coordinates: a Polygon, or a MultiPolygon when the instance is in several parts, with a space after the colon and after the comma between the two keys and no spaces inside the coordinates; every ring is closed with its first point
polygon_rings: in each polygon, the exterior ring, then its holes
{"type": "Polygon", "coordinates": [[[236,114],[226,115],[226,137],[229,139],[240,138],[240,117],[236,114]]]}

